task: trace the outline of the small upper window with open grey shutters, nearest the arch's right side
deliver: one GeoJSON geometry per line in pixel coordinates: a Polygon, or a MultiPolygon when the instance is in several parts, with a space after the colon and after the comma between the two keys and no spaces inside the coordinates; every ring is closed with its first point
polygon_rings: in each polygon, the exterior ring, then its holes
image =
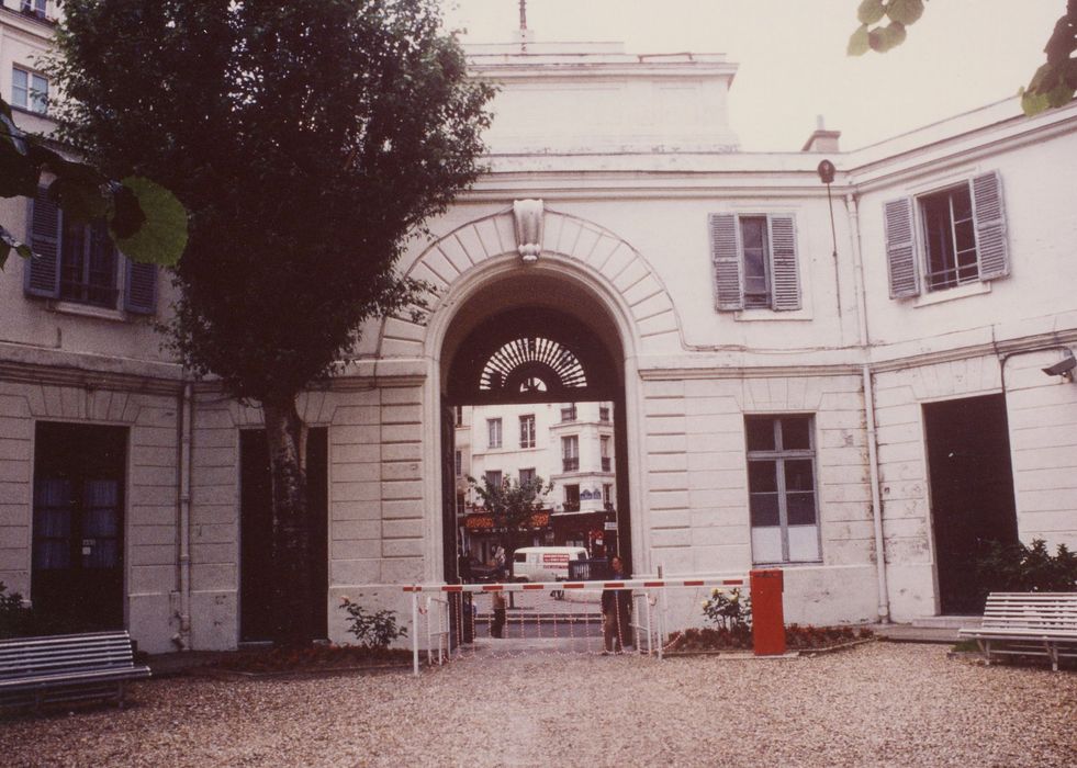
{"type": "Polygon", "coordinates": [[[793,216],[716,213],[708,223],[719,312],[800,308],[793,216]]]}

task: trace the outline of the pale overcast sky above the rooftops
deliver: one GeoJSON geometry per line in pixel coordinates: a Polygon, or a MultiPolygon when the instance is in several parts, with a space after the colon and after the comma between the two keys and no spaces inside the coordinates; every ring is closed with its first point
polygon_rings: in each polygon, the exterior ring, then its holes
{"type": "MultiPolygon", "coordinates": [[[[507,42],[518,0],[446,0],[464,43],[507,42]]],[[[845,55],[860,0],[527,0],[538,42],[622,41],[633,54],[740,65],[730,124],[745,151],[796,151],[823,115],[856,149],[1017,93],[1066,0],[928,0],[906,42],[845,55]]]]}

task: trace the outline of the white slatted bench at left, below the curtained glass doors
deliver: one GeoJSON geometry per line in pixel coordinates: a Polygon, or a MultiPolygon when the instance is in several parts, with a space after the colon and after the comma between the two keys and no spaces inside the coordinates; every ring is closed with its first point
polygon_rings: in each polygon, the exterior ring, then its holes
{"type": "Polygon", "coordinates": [[[122,709],[126,681],[145,677],[126,632],[0,641],[0,707],[115,699],[122,709]]]}

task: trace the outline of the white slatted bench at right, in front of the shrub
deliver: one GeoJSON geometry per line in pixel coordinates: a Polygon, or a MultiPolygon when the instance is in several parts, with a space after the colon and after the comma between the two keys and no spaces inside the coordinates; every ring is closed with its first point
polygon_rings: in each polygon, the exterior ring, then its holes
{"type": "Polygon", "coordinates": [[[975,640],[991,663],[994,654],[1077,658],[1077,592],[991,592],[977,629],[957,634],[975,640]]]}

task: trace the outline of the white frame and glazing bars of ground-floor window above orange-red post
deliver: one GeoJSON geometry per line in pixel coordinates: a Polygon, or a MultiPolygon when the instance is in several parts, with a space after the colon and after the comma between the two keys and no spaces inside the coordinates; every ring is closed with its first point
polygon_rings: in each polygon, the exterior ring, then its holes
{"type": "MultiPolygon", "coordinates": [[[[820,563],[822,562],[822,526],[820,521],[821,510],[819,508],[819,463],[817,461],[817,441],[816,441],[816,419],[814,415],[810,414],[752,414],[747,415],[744,418],[744,439],[745,439],[745,465],[749,470],[748,474],[748,496],[749,496],[749,509],[751,509],[751,464],[752,462],[773,462],[775,464],[775,481],[776,481],[776,497],[778,504],[778,524],[777,526],[754,526],[751,523],[751,518],[749,518],[751,524],[751,535],[752,535],[752,562],[755,564],[764,563],[820,563]],[[806,418],[808,419],[808,448],[807,449],[786,449],[782,443],[782,419],[788,418],[806,418]],[[749,421],[750,420],[767,420],[774,430],[774,445],[773,450],[748,450],[748,433],[749,433],[749,421]],[[785,462],[786,461],[810,461],[811,462],[811,493],[812,493],[812,507],[815,510],[815,522],[811,524],[796,524],[792,526],[788,518],[788,492],[785,486],[785,462]],[[811,542],[814,545],[814,553],[811,556],[794,556],[790,546],[790,531],[789,529],[799,529],[796,531],[798,538],[798,546],[804,546],[807,535],[811,535],[811,542]],[[777,529],[777,531],[775,531],[777,529]],[[808,531],[808,529],[814,529],[814,532],[808,531]],[[774,533],[777,533],[781,539],[781,557],[765,557],[762,556],[761,551],[764,549],[773,549],[769,541],[773,539],[774,533]],[[807,535],[805,535],[807,534],[807,535]]],[[[749,512],[751,515],[751,512],[749,512]]]]}

